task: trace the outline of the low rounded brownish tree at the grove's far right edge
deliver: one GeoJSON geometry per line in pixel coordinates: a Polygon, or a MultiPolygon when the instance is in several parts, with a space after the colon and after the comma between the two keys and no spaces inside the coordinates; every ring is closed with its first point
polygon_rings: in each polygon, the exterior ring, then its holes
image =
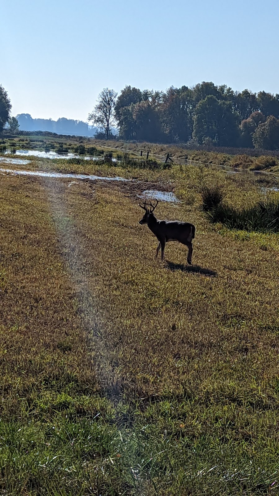
{"type": "Polygon", "coordinates": [[[256,148],[265,150],[279,149],[279,119],[269,116],[265,123],[259,124],[253,135],[256,148]]]}

